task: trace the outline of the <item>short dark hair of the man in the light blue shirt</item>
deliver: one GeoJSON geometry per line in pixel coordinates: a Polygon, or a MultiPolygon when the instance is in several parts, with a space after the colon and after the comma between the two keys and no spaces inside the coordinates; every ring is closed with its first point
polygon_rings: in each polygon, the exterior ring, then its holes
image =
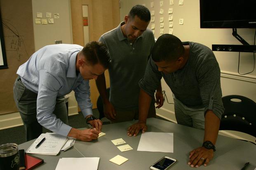
{"type": "Polygon", "coordinates": [[[95,65],[100,63],[105,69],[108,68],[111,61],[107,46],[99,41],[87,43],[82,49],[82,54],[89,64],[95,65]]]}

